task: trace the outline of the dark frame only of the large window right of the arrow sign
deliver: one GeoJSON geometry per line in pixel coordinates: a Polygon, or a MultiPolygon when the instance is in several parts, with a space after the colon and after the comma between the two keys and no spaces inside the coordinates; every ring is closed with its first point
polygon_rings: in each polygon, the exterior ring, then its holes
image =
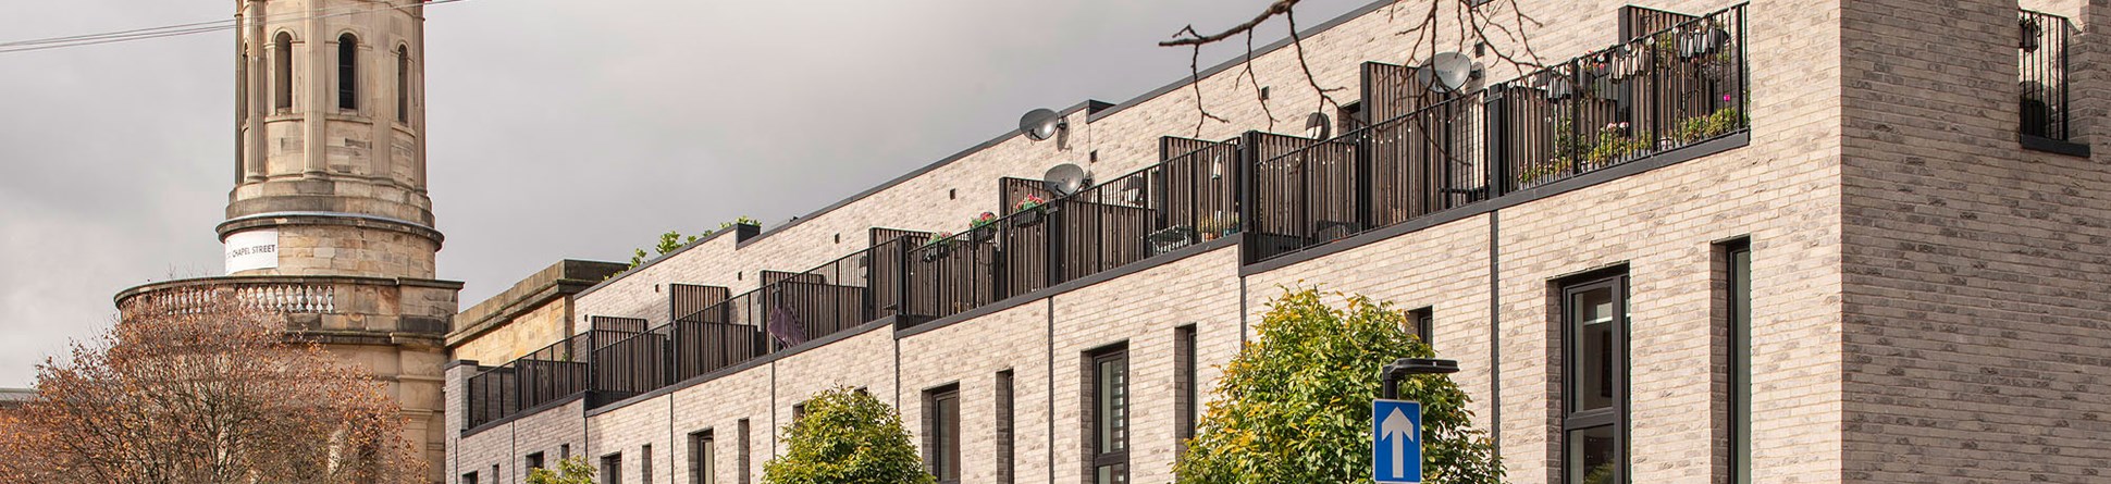
{"type": "Polygon", "coordinates": [[[1613,429],[1611,431],[1613,433],[1613,457],[1611,457],[1613,480],[1611,482],[1615,482],[1615,484],[1632,482],[1632,476],[1630,476],[1630,471],[1632,471],[1630,469],[1632,467],[1632,454],[1630,454],[1630,435],[1628,435],[1630,433],[1628,402],[1632,397],[1630,389],[1628,389],[1628,380],[1630,380],[1630,374],[1632,374],[1632,368],[1630,368],[1630,351],[1632,349],[1630,349],[1628,338],[1630,338],[1630,332],[1632,332],[1632,328],[1630,328],[1632,325],[1632,313],[1630,313],[1628,290],[1630,290],[1630,283],[1628,283],[1625,268],[1581,275],[1581,277],[1575,277],[1575,279],[1568,279],[1568,281],[1560,283],[1560,292],[1558,292],[1560,294],[1560,304],[1558,304],[1558,309],[1562,313],[1556,317],[1556,321],[1560,321],[1560,325],[1562,325],[1560,328],[1560,334],[1562,334],[1562,342],[1560,342],[1562,345],[1562,359],[1560,359],[1562,361],[1562,372],[1560,372],[1560,378],[1562,378],[1562,385],[1560,385],[1560,393],[1562,393],[1562,397],[1560,397],[1560,406],[1562,406],[1562,454],[1558,459],[1558,463],[1560,463],[1558,467],[1562,469],[1560,482],[1564,482],[1564,484],[1581,484],[1583,476],[1590,473],[1587,469],[1571,469],[1571,465],[1568,465],[1573,461],[1573,457],[1577,454],[1575,446],[1579,446],[1579,442],[1575,442],[1573,435],[1577,435],[1579,431],[1602,429],[1602,427],[1611,427],[1613,429]],[[1611,391],[1611,395],[1609,395],[1611,402],[1606,404],[1606,408],[1577,410],[1575,402],[1577,402],[1577,393],[1581,393],[1577,389],[1577,383],[1581,380],[1577,372],[1581,368],[1577,368],[1575,361],[1577,361],[1577,355],[1581,353],[1581,349],[1579,349],[1581,338],[1577,336],[1579,321],[1575,317],[1577,317],[1577,313],[1581,309],[1575,306],[1575,300],[1577,300],[1577,296],[1581,296],[1585,292],[1596,292],[1596,290],[1611,290],[1611,298],[1613,298],[1611,306],[1613,306],[1613,311],[1617,311],[1615,317],[1613,317],[1613,321],[1609,321],[1609,323],[1613,323],[1613,328],[1611,328],[1611,340],[1606,342],[1606,355],[1604,355],[1609,359],[1606,366],[1613,370],[1611,374],[1604,376],[1606,378],[1604,385],[1609,385],[1606,389],[1611,391]]]}

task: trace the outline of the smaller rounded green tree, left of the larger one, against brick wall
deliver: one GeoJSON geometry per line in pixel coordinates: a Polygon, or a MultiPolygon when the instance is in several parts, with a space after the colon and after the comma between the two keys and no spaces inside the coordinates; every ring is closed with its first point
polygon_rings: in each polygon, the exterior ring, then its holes
{"type": "Polygon", "coordinates": [[[866,391],[836,387],[785,427],[785,454],[762,465],[768,484],[931,484],[901,414],[866,391]]]}

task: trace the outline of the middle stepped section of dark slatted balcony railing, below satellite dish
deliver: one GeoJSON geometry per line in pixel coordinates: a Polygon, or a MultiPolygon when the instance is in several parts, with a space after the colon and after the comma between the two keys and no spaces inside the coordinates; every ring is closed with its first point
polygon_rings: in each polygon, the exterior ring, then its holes
{"type": "Polygon", "coordinates": [[[1201,144],[904,254],[906,313],[948,317],[1239,230],[1239,144],[1201,144]]]}

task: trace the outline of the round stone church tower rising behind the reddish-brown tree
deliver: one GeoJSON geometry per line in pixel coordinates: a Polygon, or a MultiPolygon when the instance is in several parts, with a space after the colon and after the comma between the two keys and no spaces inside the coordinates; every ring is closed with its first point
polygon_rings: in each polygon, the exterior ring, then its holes
{"type": "Polygon", "coordinates": [[[296,332],[374,370],[443,482],[441,364],[454,281],[424,165],[422,0],[239,0],[236,156],[226,275],[116,296],[182,311],[209,292],[289,315],[296,332]]]}

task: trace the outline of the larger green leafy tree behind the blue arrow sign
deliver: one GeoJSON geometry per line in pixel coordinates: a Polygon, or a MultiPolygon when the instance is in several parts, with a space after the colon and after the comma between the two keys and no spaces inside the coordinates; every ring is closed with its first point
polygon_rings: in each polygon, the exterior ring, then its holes
{"type": "MultiPolygon", "coordinates": [[[[1188,450],[1180,484],[1370,482],[1370,399],[1378,368],[1433,357],[1387,302],[1286,290],[1256,325],[1260,340],[1224,366],[1188,450]]],[[[1501,461],[1471,429],[1471,402],[1446,376],[1410,376],[1400,397],[1423,402],[1423,471],[1431,484],[1495,484],[1501,461]]]]}

